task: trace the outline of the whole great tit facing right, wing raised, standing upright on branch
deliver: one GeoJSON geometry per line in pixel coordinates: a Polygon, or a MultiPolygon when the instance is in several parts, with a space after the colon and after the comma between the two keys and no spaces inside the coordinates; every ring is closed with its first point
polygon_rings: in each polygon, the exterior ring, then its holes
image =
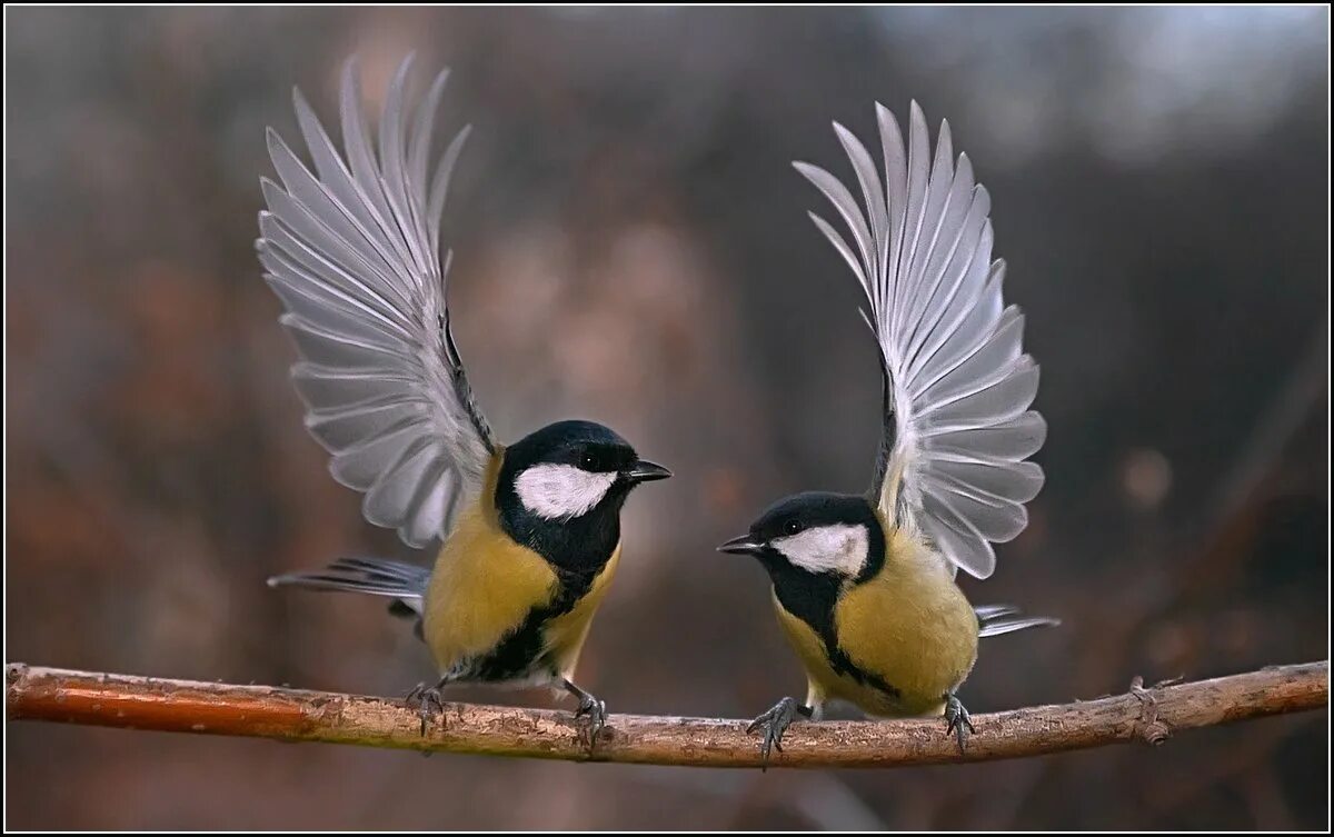
{"type": "Polygon", "coordinates": [[[362,512],[435,564],[342,557],[279,574],[271,586],[391,600],[414,622],[438,680],[408,693],[422,734],[455,682],[551,688],[579,701],[590,744],[606,702],[575,682],[592,617],[620,560],[630,492],[671,476],[610,428],[558,421],[496,441],[468,384],[446,300],[452,251],[440,220],[470,127],[428,171],[448,69],[410,93],[412,56],[384,96],[378,141],[362,111],[356,60],[342,73],[340,155],[293,89],[313,169],[267,131],[277,180],[256,243],[264,279],[299,355],[291,376],[305,426],[362,512]]]}

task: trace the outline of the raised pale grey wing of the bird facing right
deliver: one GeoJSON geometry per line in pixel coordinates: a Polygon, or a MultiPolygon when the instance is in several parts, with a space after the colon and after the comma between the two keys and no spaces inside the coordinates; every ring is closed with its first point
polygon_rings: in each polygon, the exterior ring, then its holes
{"type": "Polygon", "coordinates": [[[450,333],[450,252],[440,260],[440,215],[468,129],[428,176],[448,71],[414,103],[410,67],[411,57],[386,96],[378,155],[355,63],[343,72],[342,156],[293,92],[315,169],[268,131],[281,183],[261,180],[268,211],[256,248],[287,308],[280,321],[301,356],[292,379],[334,478],[366,492],[368,521],[424,546],[479,490],[496,442],[450,333]]]}

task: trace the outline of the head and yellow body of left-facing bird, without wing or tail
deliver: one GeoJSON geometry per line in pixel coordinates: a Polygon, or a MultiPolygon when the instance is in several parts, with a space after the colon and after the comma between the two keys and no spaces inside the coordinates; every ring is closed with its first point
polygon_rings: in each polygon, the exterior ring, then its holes
{"type": "Polygon", "coordinates": [[[727,552],[759,558],[806,668],[806,705],[940,714],[978,653],[979,621],[948,562],[864,497],[811,492],[770,508],[727,552]]]}

